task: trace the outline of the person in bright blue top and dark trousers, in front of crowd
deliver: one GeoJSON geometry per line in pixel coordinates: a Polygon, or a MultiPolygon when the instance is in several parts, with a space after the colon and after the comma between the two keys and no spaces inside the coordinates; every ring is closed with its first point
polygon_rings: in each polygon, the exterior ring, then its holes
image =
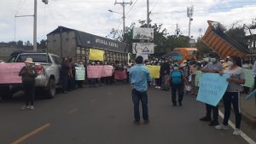
{"type": "Polygon", "coordinates": [[[173,71],[170,72],[170,76],[166,79],[166,84],[169,83],[172,88],[172,105],[176,107],[178,101],[179,106],[182,106],[184,83],[188,84],[188,81],[183,72],[178,69],[178,64],[173,65],[173,71]],[[178,93],[178,100],[176,100],[176,92],[178,93]]]}

